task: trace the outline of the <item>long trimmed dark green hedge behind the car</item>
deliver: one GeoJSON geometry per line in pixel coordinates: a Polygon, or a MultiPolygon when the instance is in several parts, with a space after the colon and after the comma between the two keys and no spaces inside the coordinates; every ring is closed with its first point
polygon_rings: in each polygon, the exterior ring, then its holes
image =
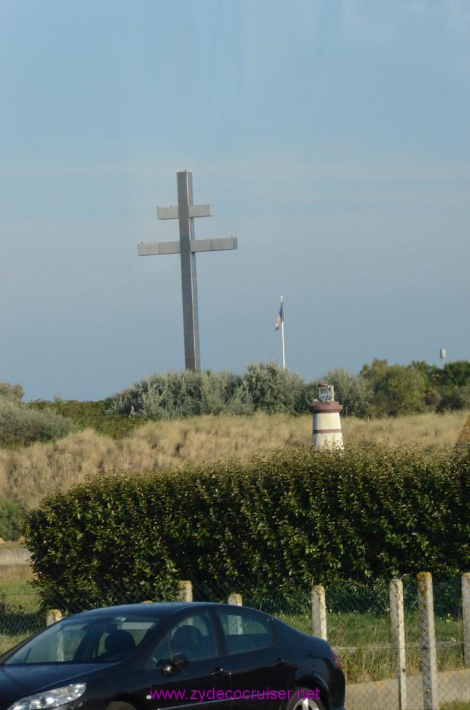
{"type": "Polygon", "coordinates": [[[46,498],[26,542],[46,599],[70,603],[135,584],[158,599],[175,579],[290,594],[450,576],[470,568],[469,474],[466,455],[374,446],[102,475],[46,498]]]}

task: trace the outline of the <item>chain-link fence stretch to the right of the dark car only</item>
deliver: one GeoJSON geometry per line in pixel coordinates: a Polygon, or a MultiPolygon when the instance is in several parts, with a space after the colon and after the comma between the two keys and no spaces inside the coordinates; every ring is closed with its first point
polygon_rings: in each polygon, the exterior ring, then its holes
{"type": "Polygon", "coordinates": [[[436,684],[434,692],[427,694],[431,673],[424,665],[426,649],[416,581],[403,583],[401,659],[390,638],[388,584],[376,584],[373,589],[326,590],[327,638],[341,658],[347,710],[470,710],[461,580],[437,580],[433,591],[435,639],[431,650],[436,660],[436,684]],[[461,704],[455,705],[457,701],[461,704]]]}

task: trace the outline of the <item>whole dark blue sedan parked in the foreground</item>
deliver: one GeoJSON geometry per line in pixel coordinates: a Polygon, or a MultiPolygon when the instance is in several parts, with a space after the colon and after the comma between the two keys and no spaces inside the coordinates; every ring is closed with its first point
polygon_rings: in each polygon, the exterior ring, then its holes
{"type": "Polygon", "coordinates": [[[322,639],[217,603],[141,603],[62,619],[0,657],[0,710],[344,710],[322,639]]]}

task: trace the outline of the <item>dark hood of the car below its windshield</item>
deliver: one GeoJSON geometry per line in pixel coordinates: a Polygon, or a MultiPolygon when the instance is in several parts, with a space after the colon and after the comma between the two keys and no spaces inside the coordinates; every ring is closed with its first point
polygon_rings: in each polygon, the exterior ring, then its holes
{"type": "Polygon", "coordinates": [[[102,663],[0,666],[0,710],[6,710],[17,700],[43,690],[74,682],[86,683],[106,667],[102,663]]]}

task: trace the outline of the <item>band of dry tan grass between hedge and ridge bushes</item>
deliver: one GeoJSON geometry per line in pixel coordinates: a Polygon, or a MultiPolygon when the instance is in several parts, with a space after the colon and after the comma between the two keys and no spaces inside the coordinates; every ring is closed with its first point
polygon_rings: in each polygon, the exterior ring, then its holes
{"type": "MultiPolygon", "coordinates": [[[[423,414],[398,419],[342,420],[344,444],[388,441],[422,449],[454,445],[469,413],[423,414]]],[[[187,461],[248,457],[292,444],[308,444],[312,417],[258,413],[252,417],[195,417],[148,422],[124,439],[94,430],[24,449],[0,449],[0,494],[38,505],[47,493],[67,489],[101,471],[144,471],[187,461]]]]}

